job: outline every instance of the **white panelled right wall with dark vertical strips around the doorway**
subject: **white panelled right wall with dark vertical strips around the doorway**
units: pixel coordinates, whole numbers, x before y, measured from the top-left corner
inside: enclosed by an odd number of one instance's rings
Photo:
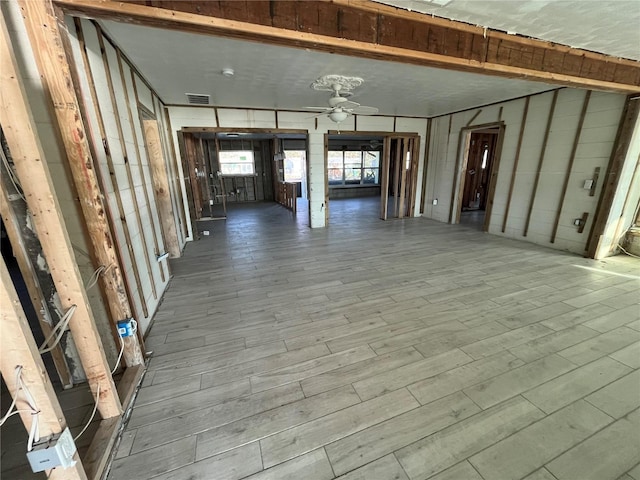
[[[557,95],[555,105],[554,95]],[[585,90],[564,88],[557,93],[529,97],[526,118],[524,98],[434,118],[424,216],[443,222],[455,220],[460,205],[453,193],[460,188],[464,174],[461,168],[467,132],[464,129],[503,122],[505,135],[495,177],[489,232],[584,253],[624,102],[623,95],[603,92],[587,95]],[[522,144],[514,172],[523,120]],[[548,140],[543,149],[547,128]],[[577,143],[572,161],[574,142]],[[600,167],[601,175],[595,195],[589,196],[584,183],[593,178],[596,167]],[[456,178],[457,168],[460,171]],[[513,195],[509,198],[512,178]],[[433,205],[434,199],[438,200],[437,205]],[[573,222],[585,212],[587,222],[579,233]]]

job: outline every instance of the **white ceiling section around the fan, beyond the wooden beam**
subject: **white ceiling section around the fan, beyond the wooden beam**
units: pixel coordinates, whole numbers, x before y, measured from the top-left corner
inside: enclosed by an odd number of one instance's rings
[[[298,48],[101,22],[110,37],[168,104],[185,93],[211,96],[216,106],[301,110],[326,106],[328,92],[311,89],[327,74],[362,77],[352,100],[384,115],[429,117],[555,88],[540,82],[460,73]],[[223,68],[233,68],[231,78]]]

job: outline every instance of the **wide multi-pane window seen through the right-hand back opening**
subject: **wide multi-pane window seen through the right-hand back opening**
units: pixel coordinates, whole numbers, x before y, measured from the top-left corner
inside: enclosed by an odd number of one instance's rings
[[[378,185],[380,152],[329,150],[329,185]]]

